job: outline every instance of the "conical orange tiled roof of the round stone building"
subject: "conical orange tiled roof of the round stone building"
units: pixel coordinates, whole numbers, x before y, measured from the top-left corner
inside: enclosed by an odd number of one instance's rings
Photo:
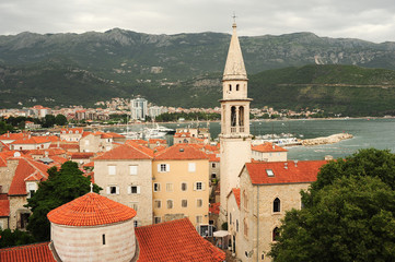
[[[136,216],[129,206],[96,193],[86,193],[47,215],[51,223],[67,226],[98,226],[128,221]]]

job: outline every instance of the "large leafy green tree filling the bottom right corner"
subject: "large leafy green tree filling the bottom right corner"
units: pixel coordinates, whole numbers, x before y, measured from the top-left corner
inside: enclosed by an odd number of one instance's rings
[[[395,261],[395,156],[361,150],[325,165],[287,212],[269,253],[281,261]]]

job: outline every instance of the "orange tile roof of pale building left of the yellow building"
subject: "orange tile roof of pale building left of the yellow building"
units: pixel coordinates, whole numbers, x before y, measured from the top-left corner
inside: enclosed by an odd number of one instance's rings
[[[141,146],[136,144],[137,147]],[[95,160],[102,159],[151,159],[152,158],[152,150],[150,148],[137,148],[129,144],[119,145],[111,151],[105,152],[103,155],[94,158]],[[141,146],[143,147],[143,146]],[[146,150],[149,150],[147,152]]]

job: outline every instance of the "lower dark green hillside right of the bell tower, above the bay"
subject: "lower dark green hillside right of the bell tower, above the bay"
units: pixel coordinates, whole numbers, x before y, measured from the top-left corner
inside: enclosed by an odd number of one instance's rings
[[[321,108],[348,116],[395,114],[395,71],[355,66],[305,66],[249,78],[253,106]]]

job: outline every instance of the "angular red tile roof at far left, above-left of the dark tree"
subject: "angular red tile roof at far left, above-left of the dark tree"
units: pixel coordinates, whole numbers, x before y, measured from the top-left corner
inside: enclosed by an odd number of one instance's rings
[[[9,195],[27,194],[25,181],[42,181],[48,177],[48,166],[28,158],[18,158],[19,164],[9,190]]]

